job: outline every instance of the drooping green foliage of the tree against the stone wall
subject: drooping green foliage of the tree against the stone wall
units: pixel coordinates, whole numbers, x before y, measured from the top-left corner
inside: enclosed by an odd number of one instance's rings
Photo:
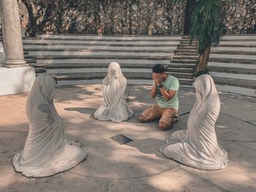
[[[198,53],[203,54],[206,47],[218,46],[225,34],[223,22],[225,12],[222,0],[198,0],[192,13],[190,43],[197,40]]]

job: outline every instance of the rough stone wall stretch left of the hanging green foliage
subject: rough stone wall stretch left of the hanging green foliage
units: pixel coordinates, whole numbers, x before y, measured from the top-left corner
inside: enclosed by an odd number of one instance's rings
[[[38,33],[181,34],[184,28],[184,3],[171,0],[78,0],[59,9]]]

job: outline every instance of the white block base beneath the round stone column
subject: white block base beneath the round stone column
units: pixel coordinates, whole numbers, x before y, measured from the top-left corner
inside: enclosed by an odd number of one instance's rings
[[[36,76],[31,66],[0,68],[0,96],[30,91]]]

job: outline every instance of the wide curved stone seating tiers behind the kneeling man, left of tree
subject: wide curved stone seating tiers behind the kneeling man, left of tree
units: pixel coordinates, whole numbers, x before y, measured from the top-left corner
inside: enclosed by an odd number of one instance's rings
[[[39,34],[23,39],[23,48],[26,61],[37,61],[31,64],[37,74],[52,74],[58,85],[101,83],[108,64],[117,61],[129,84],[152,85],[152,66],[163,64],[181,85],[191,86],[192,64],[170,64],[180,41],[181,36]]]

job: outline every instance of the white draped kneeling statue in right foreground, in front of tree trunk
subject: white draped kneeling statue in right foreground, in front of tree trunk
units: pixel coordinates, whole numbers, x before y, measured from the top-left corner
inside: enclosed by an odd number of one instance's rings
[[[214,80],[203,74],[195,80],[197,97],[189,114],[187,130],[175,131],[159,151],[167,158],[196,169],[225,169],[227,151],[217,142],[215,123],[220,101]]]

